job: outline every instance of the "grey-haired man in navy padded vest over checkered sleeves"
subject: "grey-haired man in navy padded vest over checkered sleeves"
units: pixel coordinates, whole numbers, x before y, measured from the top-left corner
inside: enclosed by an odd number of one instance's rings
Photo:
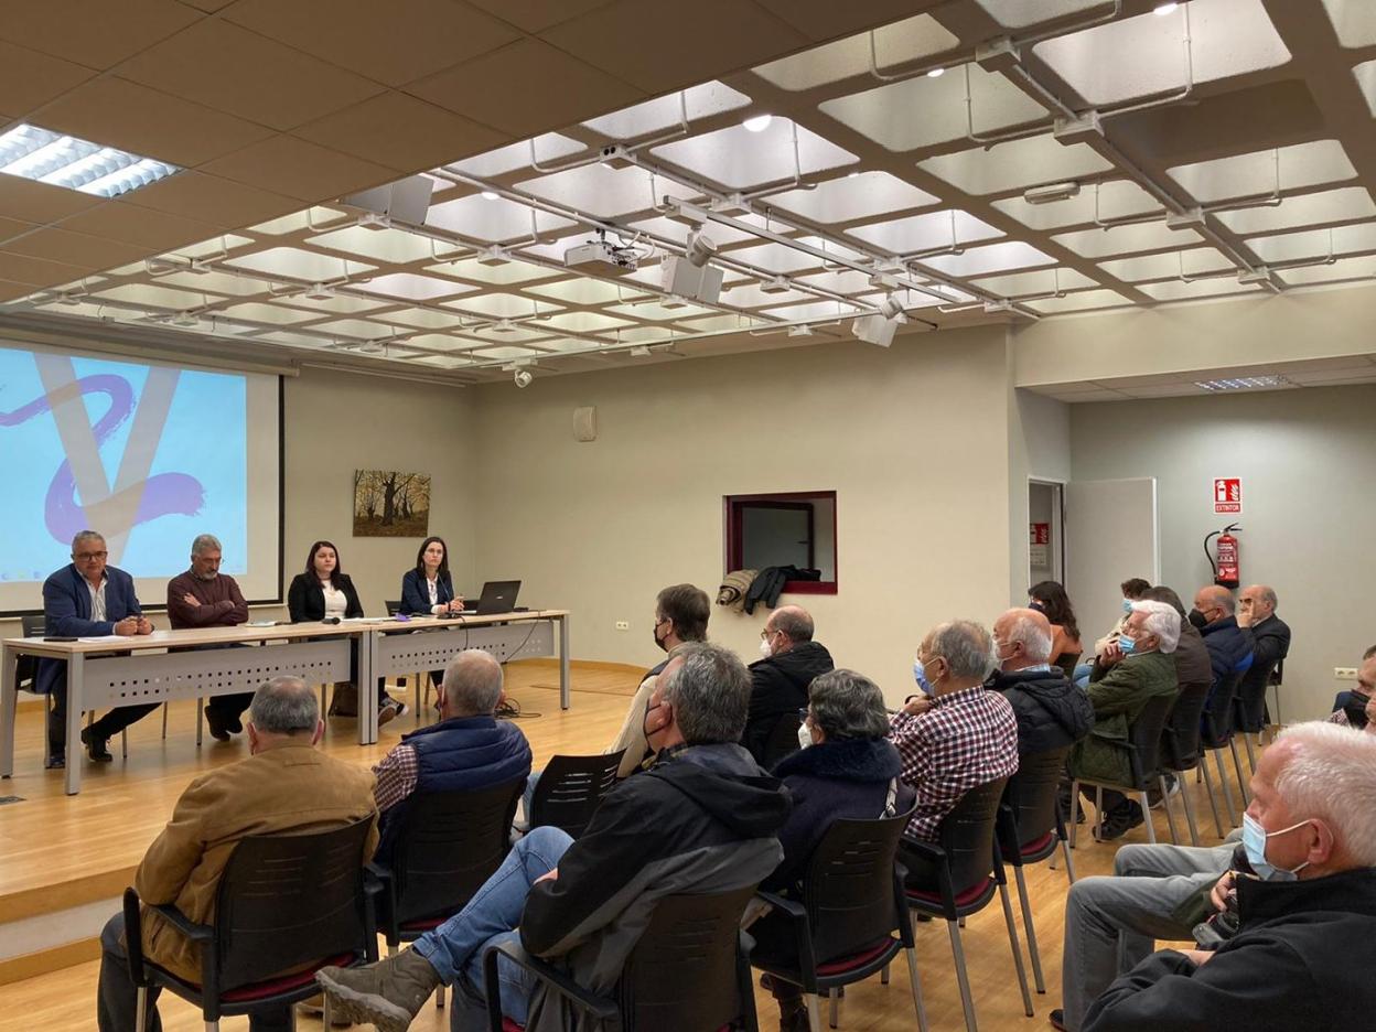
[[[439,724],[403,735],[377,775],[383,841],[377,859],[389,863],[413,793],[482,791],[530,775],[530,743],[493,711],[502,699],[502,667],[487,652],[460,652],[438,687]]]

